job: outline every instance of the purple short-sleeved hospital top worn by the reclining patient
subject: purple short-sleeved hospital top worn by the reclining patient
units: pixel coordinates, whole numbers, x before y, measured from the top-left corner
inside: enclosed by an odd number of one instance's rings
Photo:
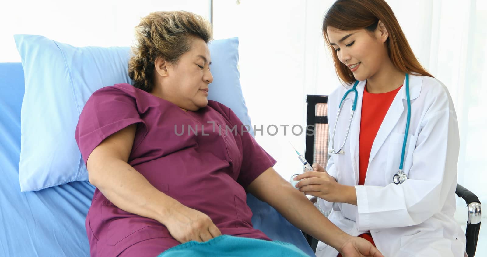
[[[131,124],[137,130],[128,163],[150,184],[208,215],[224,235],[270,240],[252,227],[244,188],[276,161],[232,110],[208,101],[206,108],[186,112],[125,83],[99,89],[76,127],[85,164],[105,138]],[[148,239],[157,239],[156,252],[179,244],[164,225],[117,208],[98,189],[86,231],[92,257],[118,256]],[[137,253],[146,256],[144,248]]]

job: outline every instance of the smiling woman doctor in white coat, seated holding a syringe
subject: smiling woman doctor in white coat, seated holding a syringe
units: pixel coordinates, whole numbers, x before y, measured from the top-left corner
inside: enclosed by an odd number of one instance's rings
[[[453,219],[458,123],[447,88],[419,64],[384,0],[337,0],[323,35],[348,86],[328,98],[326,171],[314,164],[296,187],[384,256],[463,257]],[[316,254],[338,252],[319,242]]]

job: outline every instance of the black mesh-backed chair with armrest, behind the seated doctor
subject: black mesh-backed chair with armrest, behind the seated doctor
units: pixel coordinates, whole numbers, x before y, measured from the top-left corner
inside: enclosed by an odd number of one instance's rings
[[[319,165],[326,167],[328,159],[330,158],[328,155],[328,96],[307,95],[306,102],[308,103],[306,125],[314,126],[315,133],[313,135],[310,135],[311,133],[306,134],[305,158],[309,163],[318,163]],[[467,237],[466,252],[468,257],[473,257],[477,248],[477,239],[480,231],[480,219],[482,214],[480,201],[475,194],[468,191],[460,184],[457,184],[455,193],[458,197],[465,200],[468,206],[467,231],[465,233]],[[328,217],[329,213],[323,211],[322,213]],[[303,234],[313,251],[316,252],[318,240],[310,235]]]

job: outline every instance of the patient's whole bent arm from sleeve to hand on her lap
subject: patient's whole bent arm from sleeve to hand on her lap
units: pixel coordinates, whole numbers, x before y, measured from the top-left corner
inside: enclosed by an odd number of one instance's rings
[[[220,236],[220,230],[206,214],[157,190],[127,163],[135,129],[135,124],[122,129],[94,148],[87,161],[90,183],[118,208],[166,225],[179,242]]]

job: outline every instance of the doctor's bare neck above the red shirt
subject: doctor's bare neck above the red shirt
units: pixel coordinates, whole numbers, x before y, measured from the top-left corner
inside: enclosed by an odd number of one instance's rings
[[[386,93],[400,87],[406,74],[397,69],[389,58],[386,58],[377,72],[367,78],[367,92]]]

